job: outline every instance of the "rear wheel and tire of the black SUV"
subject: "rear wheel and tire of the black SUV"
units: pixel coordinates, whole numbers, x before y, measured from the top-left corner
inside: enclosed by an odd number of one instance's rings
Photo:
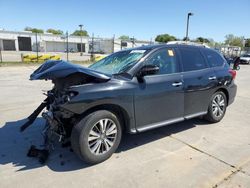
[[[217,91],[211,97],[208,106],[208,112],[205,115],[204,119],[212,123],[217,123],[223,119],[226,113],[226,109],[227,109],[227,97],[224,92]]]

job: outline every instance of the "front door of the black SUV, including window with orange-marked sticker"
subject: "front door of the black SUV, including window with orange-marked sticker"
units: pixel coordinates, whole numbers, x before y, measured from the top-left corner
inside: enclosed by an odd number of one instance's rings
[[[134,99],[137,130],[183,120],[183,81],[174,49],[157,50],[145,64],[159,66],[159,72],[144,76],[143,82],[138,82]]]

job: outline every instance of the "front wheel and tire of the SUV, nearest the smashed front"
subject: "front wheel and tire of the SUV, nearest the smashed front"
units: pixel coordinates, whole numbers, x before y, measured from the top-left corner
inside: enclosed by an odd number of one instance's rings
[[[121,137],[122,128],[118,117],[110,111],[98,110],[73,127],[71,147],[86,163],[97,164],[115,152]]]

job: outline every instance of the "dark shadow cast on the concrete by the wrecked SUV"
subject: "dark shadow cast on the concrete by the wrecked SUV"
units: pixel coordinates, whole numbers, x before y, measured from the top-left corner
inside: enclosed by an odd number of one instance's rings
[[[31,145],[35,145],[38,148],[41,147],[43,141],[41,132],[44,120],[41,117],[37,118],[31,127],[21,133],[19,129],[26,121],[26,119],[23,119],[6,122],[5,125],[0,128],[0,165],[11,164],[15,167],[15,171],[31,170],[44,166],[38,162],[37,158],[27,157],[27,152]],[[192,119],[139,134],[124,134],[116,153],[134,149],[138,146],[170,136],[171,134],[206,124],[207,122],[204,120]],[[73,171],[90,167],[90,165],[81,161],[69,147],[63,148],[59,143],[55,146],[55,150],[50,154],[45,165],[57,172]]]

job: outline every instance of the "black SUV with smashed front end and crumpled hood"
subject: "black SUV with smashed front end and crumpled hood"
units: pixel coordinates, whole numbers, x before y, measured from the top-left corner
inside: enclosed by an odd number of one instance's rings
[[[126,49],[88,68],[47,61],[30,79],[52,80],[54,87],[21,131],[46,108],[44,150],[58,137],[82,160],[99,163],[115,152],[124,131],[198,116],[219,122],[235,98],[235,76],[218,52],[186,45]]]

